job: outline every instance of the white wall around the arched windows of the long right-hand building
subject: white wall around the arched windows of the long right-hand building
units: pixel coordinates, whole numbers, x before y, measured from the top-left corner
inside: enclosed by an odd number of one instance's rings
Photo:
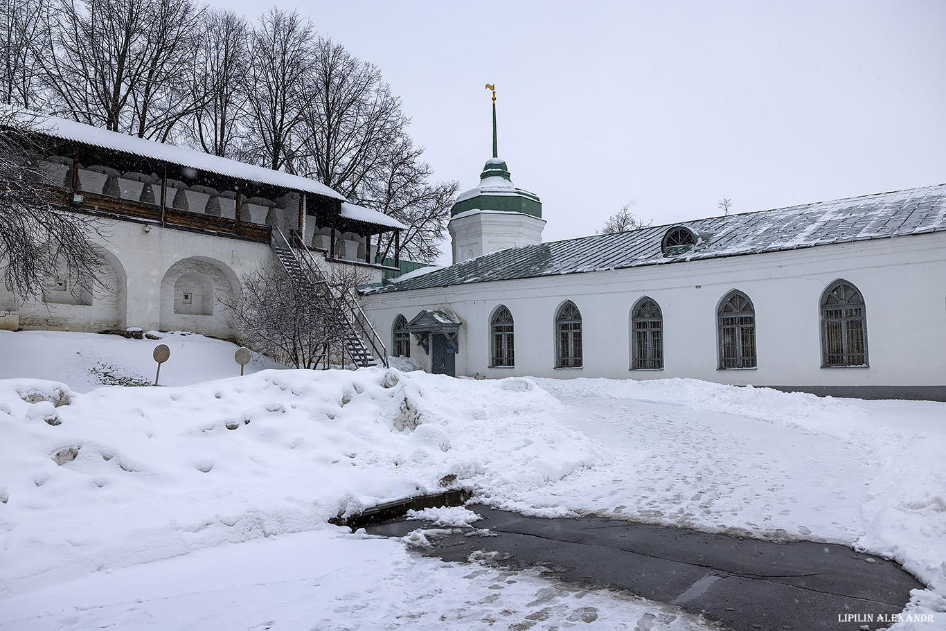
[[[821,368],[819,300],[843,278],[861,290],[869,367]],[[486,377],[695,377],[738,385],[946,384],[946,235],[878,239],[628,270],[577,273],[369,294],[378,331],[394,317],[447,309],[463,321],[457,375]],[[758,367],[718,370],[716,308],[731,289],[756,312]],[[629,314],[647,295],[663,313],[664,369],[632,371]],[[554,368],[553,318],[570,299],[583,318],[584,366]],[[515,321],[516,366],[489,368],[489,314]],[[385,341],[390,344],[389,339]],[[412,341],[413,342],[413,341]],[[412,346],[429,370],[429,357]],[[426,362],[426,363],[425,363]]]

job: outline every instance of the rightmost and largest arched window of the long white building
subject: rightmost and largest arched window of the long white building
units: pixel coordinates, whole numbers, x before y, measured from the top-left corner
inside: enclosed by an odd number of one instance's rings
[[[821,294],[821,365],[867,366],[864,298],[846,280]]]

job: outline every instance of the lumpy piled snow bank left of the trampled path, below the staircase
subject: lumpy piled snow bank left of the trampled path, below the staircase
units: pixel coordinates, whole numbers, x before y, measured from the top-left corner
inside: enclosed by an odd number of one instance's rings
[[[543,418],[555,403],[527,379],[382,369],[88,394],[0,381],[0,596],[331,528],[448,485],[502,494],[604,462],[601,445]]]

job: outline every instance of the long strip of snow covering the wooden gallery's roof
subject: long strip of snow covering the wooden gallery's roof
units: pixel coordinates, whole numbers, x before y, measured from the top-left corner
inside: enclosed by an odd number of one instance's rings
[[[203,151],[184,149],[183,147],[175,147],[174,145],[167,145],[145,138],[118,133],[117,131],[103,130],[99,127],[92,127],[91,125],[77,123],[76,121],[66,120],[57,116],[19,114],[19,117],[27,124],[28,129],[54,138],[72,140],[83,145],[92,145],[93,147],[101,149],[123,151],[125,153],[131,153],[132,155],[153,158],[155,160],[164,160],[175,165],[181,165],[182,167],[196,168],[201,171],[236,178],[237,180],[283,186],[292,190],[316,193],[318,195],[324,195],[325,197],[344,200],[342,194],[335,192],[320,182],[298,175],[284,173],[283,171],[274,171],[272,168],[256,167],[254,165],[237,162],[236,160],[230,160],[229,158],[221,158],[216,155],[211,155],[210,153],[204,153]],[[378,221],[373,222],[377,223]]]

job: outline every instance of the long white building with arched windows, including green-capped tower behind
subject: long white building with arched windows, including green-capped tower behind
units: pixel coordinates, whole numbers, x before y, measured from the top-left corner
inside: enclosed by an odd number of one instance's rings
[[[541,243],[487,161],[453,265],[367,289],[393,355],[466,377],[694,377],[946,400],[946,184]]]

